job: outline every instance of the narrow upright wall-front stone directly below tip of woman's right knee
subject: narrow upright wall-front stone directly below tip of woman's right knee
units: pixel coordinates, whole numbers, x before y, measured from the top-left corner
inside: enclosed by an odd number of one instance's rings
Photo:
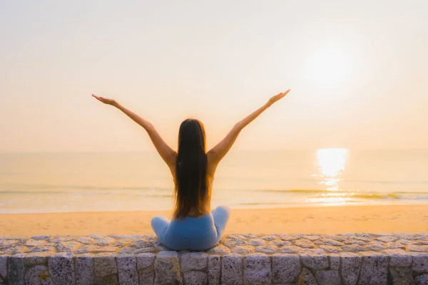
[[[221,284],[243,284],[243,256],[228,254],[223,257]]]

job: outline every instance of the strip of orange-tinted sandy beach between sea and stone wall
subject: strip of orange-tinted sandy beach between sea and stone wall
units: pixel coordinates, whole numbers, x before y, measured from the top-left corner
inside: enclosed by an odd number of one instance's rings
[[[153,234],[151,218],[170,212],[0,214],[0,235]],[[427,206],[233,209],[226,233],[428,232]]]

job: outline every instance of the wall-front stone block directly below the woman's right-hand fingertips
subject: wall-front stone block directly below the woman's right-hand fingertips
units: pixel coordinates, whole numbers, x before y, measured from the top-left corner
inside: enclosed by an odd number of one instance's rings
[[[299,277],[302,265],[295,254],[274,254],[272,256],[272,280],[274,283],[294,283]]]

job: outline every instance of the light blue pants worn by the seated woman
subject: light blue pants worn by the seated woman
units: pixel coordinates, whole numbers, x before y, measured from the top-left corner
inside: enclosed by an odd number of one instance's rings
[[[228,207],[217,207],[203,217],[173,219],[154,217],[153,231],[161,244],[174,250],[206,250],[220,242],[229,219]]]

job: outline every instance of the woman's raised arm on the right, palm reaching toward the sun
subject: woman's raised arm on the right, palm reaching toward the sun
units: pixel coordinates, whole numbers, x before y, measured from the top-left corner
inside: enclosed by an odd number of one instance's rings
[[[208,159],[210,163],[213,163],[215,166],[218,165],[218,162],[222,160],[222,158],[228,153],[230,150],[230,147],[232,147],[233,143],[235,142],[236,138],[238,138],[238,135],[243,128],[245,128],[246,125],[253,122],[255,118],[257,118],[261,113],[263,113],[264,110],[269,108],[273,103],[277,102],[277,100],[280,100],[281,98],[284,98],[287,93],[290,92],[290,89],[279,93],[275,96],[272,96],[265,105],[258,108],[258,110],[255,110],[253,113],[248,115],[243,120],[240,120],[233,128],[230,130],[228,135],[225,136],[225,138],[218,143],[218,145],[215,145],[209,152],[208,152]],[[215,168],[215,167],[214,167]]]

